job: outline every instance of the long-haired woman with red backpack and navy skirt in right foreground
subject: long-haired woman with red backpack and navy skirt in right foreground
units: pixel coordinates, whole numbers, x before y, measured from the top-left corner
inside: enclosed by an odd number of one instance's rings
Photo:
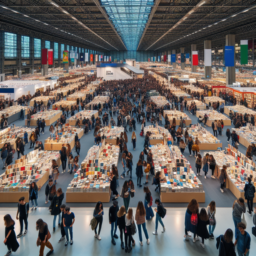
[[[191,235],[188,234],[188,231],[194,234],[193,243],[199,240],[196,237],[196,228],[198,224],[198,214],[199,214],[199,204],[196,199],[192,199],[191,202],[188,204],[188,208],[186,210],[185,215],[185,240],[188,240]]]

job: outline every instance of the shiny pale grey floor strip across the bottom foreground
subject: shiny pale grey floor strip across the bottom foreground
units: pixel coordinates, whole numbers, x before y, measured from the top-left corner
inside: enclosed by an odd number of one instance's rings
[[[155,205],[153,204],[153,207]],[[133,208],[135,212],[135,208]],[[94,231],[92,231],[89,226],[90,220],[92,218],[93,209],[92,208],[72,208],[71,211],[75,214],[75,223],[73,226],[73,239],[74,243],[71,246],[68,244],[65,247],[65,240],[58,243],[61,237],[60,228],[56,228],[56,231],[52,231],[52,221],[53,216],[50,215],[46,207],[39,207],[37,210],[29,212],[28,217],[28,234],[25,237],[18,238],[20,244],[17,252],[12,255],[19,256],[36,256],[39,255],[39,248],[36,246],[36,239],[38,237],[38,231],[36,231],[36,220],[42,218],[49,227],[51,232],[50,242],[53,245],[54,253],[52,255],[62,255],[62,256],[80,256],[80,255],[125,255],[124,250],[120,246],[120,238],[115,239],[116,245],[111,243],[110,230],[111,226],[108,220],[109,208],[104,208],[103,225],[102,231],[100,232],[101,241],[94,237]],[[161,233],[161,225],[159,224],[158,235],[155,236],[152,232],[155,229],[155,217],[146,221],[146,228],[149,234],[150,244],[147,245],[146,238],[142,232],[143,246],[139,244],[139,235],[134,235],[135,246],[130,254],[132,255],[191,255],[191,256],[213,256],[218,255],[218,250],[216,249],[216,240],[207,239],[205,241],[205,249],[200,246],[200,242],[197,241],[193,243],[190,238],[189,241],[184,239],[184,220],[185,220],[186,208],[167,208],[167,214],[163,219],[163,223],[166,227],[166,231]],[[16,216],[15,208],[0,208],[0,219],[2,220],[0,225],[0,241],[4,241],[4,223],[3,216],[6,213],[11,214],[15,219]],[[247,226],[247,232],[249,232],[251,237],[251,248],[250,255],[255,255],[256,250],[256,238],[252,235],[252,217],[248,214],[245,215]],[[19,233],[19,221],[15,219],[15,232]],[[214,230],[215,238],[221,234],[224,234],[228,228],[231,228],[233,232],[235,231],[234,223],[232,220],[232,208],[217,208],[216,209],[216,229]],[[120,232],[117,229],[117,235]],[[234,239],[233,239],[234,242]],[[7,251],[4,243],[0,243],[0,252],[2,255]],[[45,248],[45,253],[49,251]]]

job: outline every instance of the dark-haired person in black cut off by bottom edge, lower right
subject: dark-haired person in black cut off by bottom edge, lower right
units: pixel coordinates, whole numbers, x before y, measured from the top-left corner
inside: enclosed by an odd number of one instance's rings
[[[228,228],[224,235],[216,238],[216,247],[219,250],[219,256],[237,256],[235,245],[233,243],[233,231]]]

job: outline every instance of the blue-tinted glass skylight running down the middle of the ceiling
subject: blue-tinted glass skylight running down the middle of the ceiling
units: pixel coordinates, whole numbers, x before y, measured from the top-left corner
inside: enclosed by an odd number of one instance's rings
[[[101,0],[128,51],[136,51],[154,0]]]

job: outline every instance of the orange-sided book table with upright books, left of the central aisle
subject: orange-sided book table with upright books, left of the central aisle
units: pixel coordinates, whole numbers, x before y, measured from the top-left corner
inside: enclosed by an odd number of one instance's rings
[[[56,132],[53,138],[49,137],[45,140],[45,150],[61,150],[62,145],[64,144],[67,147],[68,143],[72,149],[75,146],[76,133],[80,139],[83,136],[83,129],[65,124],[65,127]]]

